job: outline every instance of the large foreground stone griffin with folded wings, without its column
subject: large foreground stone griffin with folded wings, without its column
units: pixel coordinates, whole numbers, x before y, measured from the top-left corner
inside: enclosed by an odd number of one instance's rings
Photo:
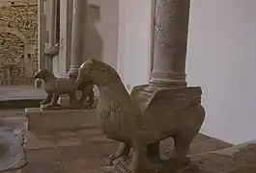
[[[152,153],[159,149],[157,143],[167,137],[175,140],[169,161],[189,161],[186,158],[189,145],[205,118],[200,87],[173,87],[147,93],[147,85],[135,86],[129,95],[116,70],[104,62],[88,59],[79,68],[75,86],[91,83],[100,90],[97,107],[100,128],[107,137],[121,142],[110,161],[128,158],[132,148],[129,172],[160,172],[149,167],[166,162],[158,152]],[[169,99],[163,100],[166,95]]]

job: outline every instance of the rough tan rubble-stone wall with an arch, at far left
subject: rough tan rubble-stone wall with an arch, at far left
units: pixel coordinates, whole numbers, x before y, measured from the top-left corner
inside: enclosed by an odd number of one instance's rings
[[[33,83],[37,71],[38,7],[35,0],[1,0],[0,3],[0,85],[8,85],[11,65],[11,84]],[[23,2],[23,3],[22,3]],[[10,66],[9,66],[10,67]]]

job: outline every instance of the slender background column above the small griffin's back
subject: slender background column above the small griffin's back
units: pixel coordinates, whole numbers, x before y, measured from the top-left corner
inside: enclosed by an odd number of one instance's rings
[[[72,32],[71,32],[71,69],[76,74],[85,56],[87,0],[73,0]]]

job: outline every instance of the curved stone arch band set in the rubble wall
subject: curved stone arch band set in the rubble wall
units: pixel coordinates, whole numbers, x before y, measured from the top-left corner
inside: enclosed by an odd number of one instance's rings
[[[19,39],[24,43],[24,54],[25,55],[30,54],[32,52],[32,46],[29,44],[28,38],[25,37],[17,29],[0,25],[0,34],[1,33],[10,33],[10,34],[15,35],[16,37],[19,37]]]

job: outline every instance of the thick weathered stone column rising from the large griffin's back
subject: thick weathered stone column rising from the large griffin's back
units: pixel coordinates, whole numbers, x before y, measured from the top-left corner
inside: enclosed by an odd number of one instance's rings
[[[152,86],[186,86],[190,0],[156,0]]]

